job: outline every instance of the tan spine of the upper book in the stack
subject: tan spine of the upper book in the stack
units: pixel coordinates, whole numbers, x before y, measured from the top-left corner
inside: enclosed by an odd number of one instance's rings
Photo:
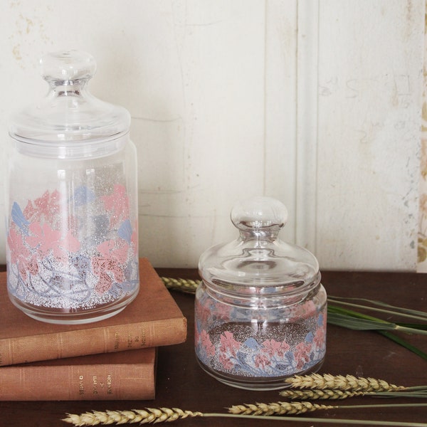
[[[185,340],[185,317],[1,339],[0,367],[39,360],[180,344]]]

